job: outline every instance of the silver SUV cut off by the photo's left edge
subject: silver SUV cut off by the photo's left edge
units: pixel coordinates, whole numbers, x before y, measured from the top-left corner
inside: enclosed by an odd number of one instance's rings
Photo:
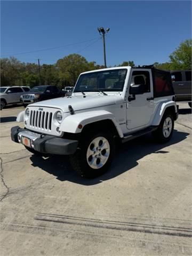
[[[0,87],[1,110],[6,105],[20,102],[20,97],[26,90],[30,90],[27,86],[3,86]]]

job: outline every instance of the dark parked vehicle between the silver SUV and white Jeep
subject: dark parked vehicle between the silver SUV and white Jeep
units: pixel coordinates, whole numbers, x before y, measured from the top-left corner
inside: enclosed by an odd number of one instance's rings
[[[21,96],[23,106],[27,106],[29,103],[54,99],[62,96],[62,92],[57,86],[53,85],[39,85],[33,87],[29,92]]]

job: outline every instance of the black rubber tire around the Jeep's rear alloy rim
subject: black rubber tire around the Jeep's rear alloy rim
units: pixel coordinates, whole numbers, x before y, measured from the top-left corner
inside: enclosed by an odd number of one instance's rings
[[[169,134],[167,135],[167,137],[165,137],[165,132],[163,132],[164,130],[163,126],[164,126],[165,120],[170,120],[172,122],[171,129],[167,128],[167,134]],[[167,112],[163,115],[162,120],[158,126],[158,129],[154,131],[152,134],[158,142],[165,143],[171,139],[173,130],[174,130],[174,118],[171,112]]]

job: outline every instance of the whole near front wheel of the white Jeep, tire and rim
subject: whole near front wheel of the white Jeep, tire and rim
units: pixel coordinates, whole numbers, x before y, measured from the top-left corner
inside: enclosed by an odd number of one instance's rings
[[[86,135],[78,147],[76,153],[70,156],[70,163],[77,173],[95,178],[108,170],[115,154],[115,143],[110,132]]]

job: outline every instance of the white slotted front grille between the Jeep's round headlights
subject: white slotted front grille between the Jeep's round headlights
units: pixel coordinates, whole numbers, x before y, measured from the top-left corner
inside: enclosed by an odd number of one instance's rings
[[[30,110],[29,125],[35,129],[51,131],[52,112]]]

